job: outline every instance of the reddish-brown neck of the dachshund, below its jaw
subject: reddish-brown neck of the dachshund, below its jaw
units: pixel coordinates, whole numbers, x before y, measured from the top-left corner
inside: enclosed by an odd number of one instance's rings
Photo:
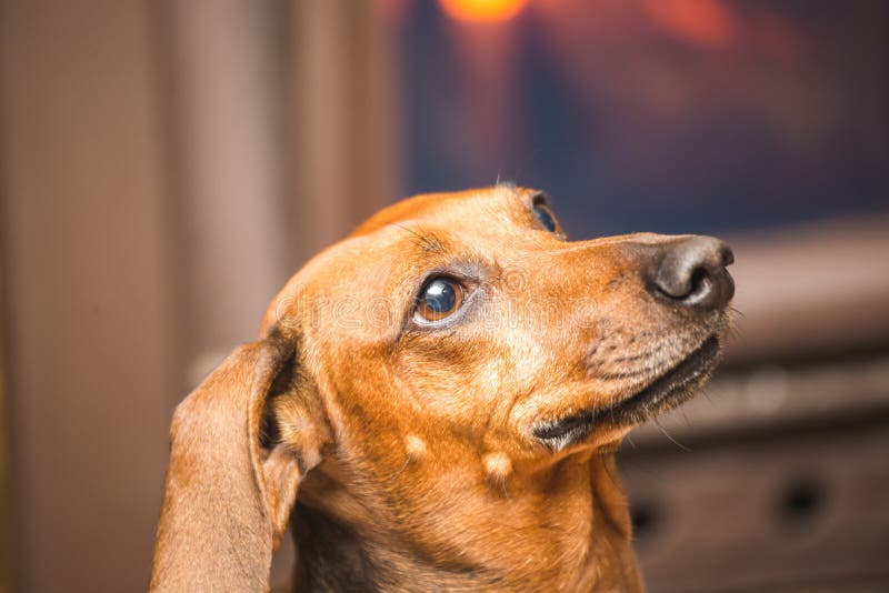
[[[291,515],[294,590],[641,591],[612,453],[499,484],[448,468],[310,472]]]

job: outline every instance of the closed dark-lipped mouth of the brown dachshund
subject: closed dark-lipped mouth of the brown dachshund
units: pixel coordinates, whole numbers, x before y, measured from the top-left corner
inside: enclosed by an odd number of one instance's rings
[[[588,436],[597,426],[640,424],[689,400],[709,378],[719,352],[719,338],[711,335],[633,395],[606,408],[591,408],[563,419],[542,422],[535,426],[533,435],[550,449],[560,450],[570,442]]]

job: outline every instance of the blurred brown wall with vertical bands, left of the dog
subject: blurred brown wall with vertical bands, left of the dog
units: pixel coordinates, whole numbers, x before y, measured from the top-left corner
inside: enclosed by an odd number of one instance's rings
[[[174,404],[396,192],[377,31],[346,0],[0,1],[16,591],[146,587]]]

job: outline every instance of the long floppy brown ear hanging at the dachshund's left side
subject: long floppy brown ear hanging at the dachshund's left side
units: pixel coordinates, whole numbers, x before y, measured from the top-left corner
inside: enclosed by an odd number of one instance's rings
[[[152,591],[268,590],[299,482],[329,434],[293,344],[271,332],[240,346],[177,408]],[[301,421],[277,426],[272,400]]]

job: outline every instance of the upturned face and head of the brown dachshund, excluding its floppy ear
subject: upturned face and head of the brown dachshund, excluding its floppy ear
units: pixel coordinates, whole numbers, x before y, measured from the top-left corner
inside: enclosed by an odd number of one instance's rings
[[[298,339],[340,446],[455,439],[547,462],[619,439],[706,380],[729,263],[708,238],[570,242],[535,191],[423,195],[310,262],[264,328]]]

